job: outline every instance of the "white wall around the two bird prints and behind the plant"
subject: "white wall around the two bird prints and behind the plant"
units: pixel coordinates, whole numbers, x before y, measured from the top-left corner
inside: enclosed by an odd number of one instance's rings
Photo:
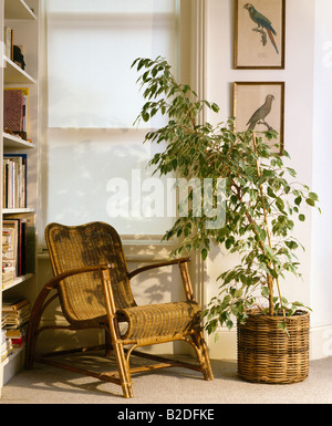
[[[207,72],[206,97],[217,102],[222,121],[232,115],[232,82],[283,81],[284,95],[284,148],[291,155],[298,180],[321,195],[323,215],[307,212],[307,220],[295,227],[295,233],[305,247],[299,252],[303,281],[290,277],[282,283],[283,295],[310,304],[312,314],[312,357],[326,356],[326,341],[317,333],[330,336],[332,330],[332,290],[329,277],[331,242],[326,232],[331,229],[329,199],[331,175],[328,174],[331,155],[331,100],[326,104],[325,92],[331,98],[332,55],[328,66],[322,66],[322,49],[332,40],[329,21],[331,0],[288,0],[286,2],[286,67],[284,70],[234,70],[234,1],[207,0]],[[317,8],[317,17],[315,17]],[[330,12],[330,13],[328,13]],[[322,24],[322,19],[325,21]],[[325,44],[324,44],[325,43]],[[332,49],[332,41],[329,49]],[[324,51],[326,54],[326,51]],[[326,62],[326,58],[325,58]],[[323,111],[323,115],[321,114]],[[329,122],[328,122],[329,120]],[[330,132],[331,134],[331,132]],[[330,145],[329,145],[330,143]],[[217,291],[216,278],[227,270],[234,260],[226,252],[216,250],[207,263],[206,297]],[[332,333],[331,333],[332,339]],[[220,330],[218,343],[209,339],[211,357],[236,356],[236,333]],[[332,351],[332,344],[331,344]],[[331,355],[331,353],[330,353]]]

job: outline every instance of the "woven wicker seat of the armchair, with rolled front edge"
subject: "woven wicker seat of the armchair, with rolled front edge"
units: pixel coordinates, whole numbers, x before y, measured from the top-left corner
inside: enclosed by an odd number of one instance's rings
[[[128,329],[122,337],[142,340],[197,330],[201,308],[196,302],[186,301],[126,308],[117,313],[128,322]]]

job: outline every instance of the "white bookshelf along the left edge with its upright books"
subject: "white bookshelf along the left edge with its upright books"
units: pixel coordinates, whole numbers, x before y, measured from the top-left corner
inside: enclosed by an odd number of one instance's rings
[[[39,177],[39,11],[40,0],[0,0],[0,24],[1,24],[1,44],[4,46],[1,54],[1,91],[0,102],[3,105],[3,115],[0,117],[0,163],[1,163],[1,185],[0,185],[0,208],[2,212],[1,220],[1,288],[0,304],[8,298],[23,298],[31,303],[37,297],[37,260],[35,260],[35,222],[37,207],[39,199],[38,177]],[[13,56],[13,50],[6,49],[6,31],[12,38],[12,46],[21,49],[24,61],[24,69],[20,61]],[[8,44],[8,43],[7,43]],[[8,54],[8,52],[10,54]],[[18,134],[8,124],[12,124],[9,117],[8,105],[10,102],[4,96],[4,92],[22,92],[22,122],[21,133]],[[10,97],[11,100],[11,97]],[[10,104],[11,105],[11,104]],[[21,104],[19,104],[19,108]],[[12,114],[12,113],[11,113]],[[9,120],[10,118],[10,120]],[[15,124],[20,120],[15,118]],[[19,163],[13,162],[9,166],[8,157],[19,158]],[[22,160],[24,158],[24,162]],[[12,160],[12,158],[10,159]],[[21,163],[20,163],[21,162]],[[23,162],[23,163],[22,163]],[[23,164],[23,165],[22,165]],[[11,168],[9,168],[11,167]],[[15,199],[9,202],[7,191]],[[14,195],[17,198],[14,198]],[[10,237],[6,237],[8,224],[13,221],[19,224],[19,238],[15,249],[8,249]],[[23,241],[23,242],[22,242]],[[27,247],[27,249],[24,249]],[[21,251],[20,251],[21,250]],[[6,278],[3,264],[6,264],[9,253],[13,256],[15,270],[13,276]],[[21,254],[19,254],[21,253]],[[22,254],[24,253],[24,254]],[[29,262],[28,262],[29,259]],[[10,259],[12,260],[12,259]],[[10,263],[10,262],[9,262]],[[20,263],[20,268],[18,268]],[[29,264],[28,264],[29,263]],[[2,310],[0,312],[2,320]],[[2,331],[2,323],[1,323]],[[3,339],[3,333],[1,334]],[[22,367],[24,346],[11,351],[10,355],[1,360],[0,368],[0,396],[1,387]]]

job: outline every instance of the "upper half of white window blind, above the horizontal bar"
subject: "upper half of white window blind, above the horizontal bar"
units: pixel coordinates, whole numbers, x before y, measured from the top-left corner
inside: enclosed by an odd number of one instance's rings
[[[131,64],[174,63],[174,0],[49,0],[50,127],[132,127],[142,96]]]

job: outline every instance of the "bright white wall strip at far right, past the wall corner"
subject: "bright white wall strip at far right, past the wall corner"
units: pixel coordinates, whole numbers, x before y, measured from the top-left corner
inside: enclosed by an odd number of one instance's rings
[[[312,184],[322,215],[312,218],[311,303],[317,336],[315,356],[332,355],[332,2],[315,1]]]

